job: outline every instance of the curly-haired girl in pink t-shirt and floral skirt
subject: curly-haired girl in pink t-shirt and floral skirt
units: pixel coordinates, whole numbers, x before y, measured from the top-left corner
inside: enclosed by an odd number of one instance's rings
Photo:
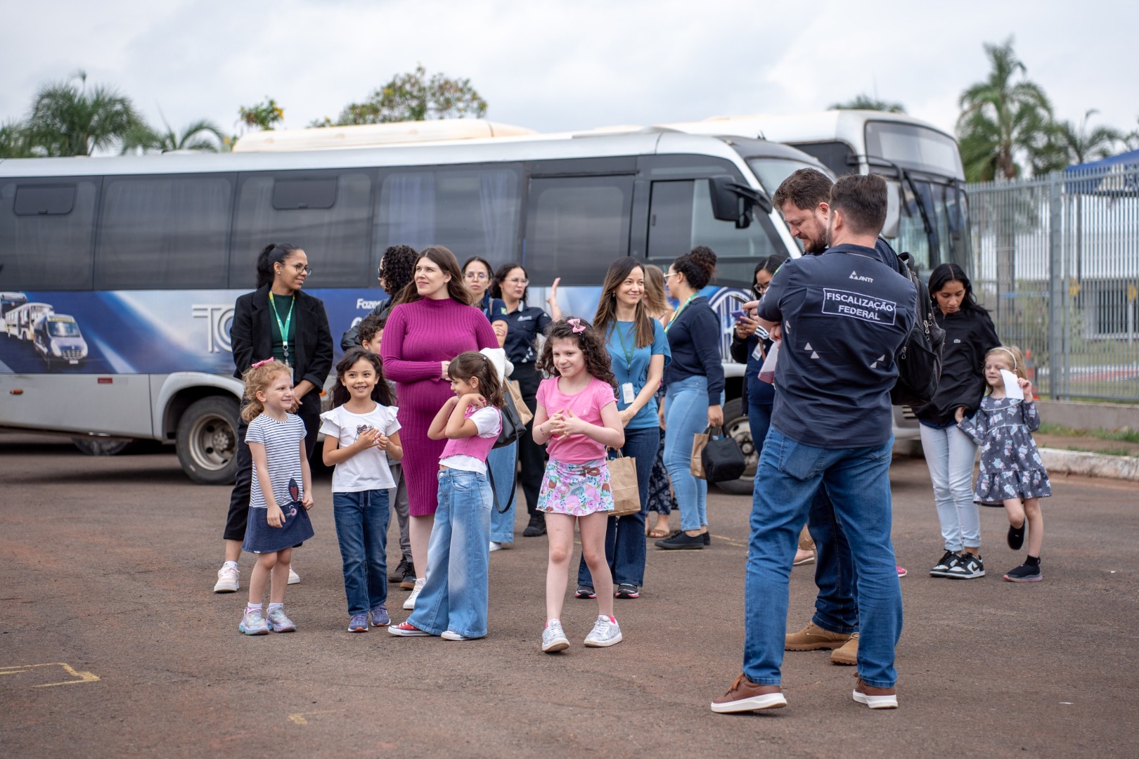
[[[617,412],[617,382],[609,368],[609,352],[589,324],[580,319],[550,324],[538,369],[551,374],[538,386],[534,442],[544,444],[550,454],[538,509],[546,513],[550,542],[542,651],[552,653],[570,647],[559,617],[570,580],[575,520],[581,530],[581,552],[597,587],[612,589],[605,528],[608,512],[613,511],[613,490],[605,448],[624,445],[625,432]],[[585,636],[585,645],[620,643],[613,593],[598,593],[597,605],[599,616]]]

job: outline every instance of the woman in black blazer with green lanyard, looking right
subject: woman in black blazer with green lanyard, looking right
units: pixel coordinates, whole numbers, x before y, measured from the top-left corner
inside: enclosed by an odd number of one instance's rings
[[[257,289],[237,299],[229,330],[233,377],[240,379],[249,366],[265,358],[293,366],[293,394],[300,398],[294,413],[304,422],[304,445],[310,456],[320,429],[320,389],[333,366],[333,336],[325,304],[301,290],[311,272],[308,256],[295,245],[265,246],[257,256]],[[229,497],[223,534],[226,563],[218,571],[214,593],[230,593],[239,587],[237,560],[245,541],[253,480],[253,459],[245,444],[247,428],[245,420],[237,427],[237,480]],[[289,584],[300,581],[290,569]]]

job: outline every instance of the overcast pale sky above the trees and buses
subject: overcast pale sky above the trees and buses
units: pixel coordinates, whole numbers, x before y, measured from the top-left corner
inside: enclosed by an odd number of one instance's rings
[[[287,127],[335,118],[394,74],[469,77],[492,121],[540,131],[823,109],[859,93],[952,129],[1015,36],[1059,118],[1130,131],[1139,77],[1134,0],[918,3],[757,0],[0,0],[0,121],[83,68],[175,129],[270,96]],[[857,18],[852,17],[857,14]]]

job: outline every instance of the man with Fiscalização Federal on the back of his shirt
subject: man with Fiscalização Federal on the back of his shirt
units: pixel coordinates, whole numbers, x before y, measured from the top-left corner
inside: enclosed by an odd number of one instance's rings
[[[759,304],[781,338],[771,431],[751,517],[744,671],[712,703],[716,712],[786,706],[780,683],[788,580],[798,531],[819,486],[831,498],[859,578],[858,679],[853,698],[894,708],[894,645],[901,587],[890,538],[890,389],[894,355],[917,311],[910,281],[875,251],[886,216],[880,176],[844,176],[831,188],[818,256],[784,264]]]

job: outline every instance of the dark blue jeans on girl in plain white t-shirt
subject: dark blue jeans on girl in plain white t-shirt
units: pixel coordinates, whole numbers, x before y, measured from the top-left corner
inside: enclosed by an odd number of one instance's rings
[[[387,490],[333,493],[333,519],[350,614],[366,614],[387,601],[390,518]]]

